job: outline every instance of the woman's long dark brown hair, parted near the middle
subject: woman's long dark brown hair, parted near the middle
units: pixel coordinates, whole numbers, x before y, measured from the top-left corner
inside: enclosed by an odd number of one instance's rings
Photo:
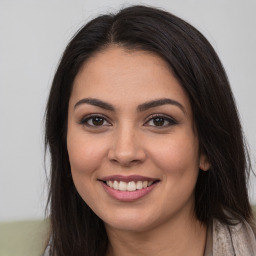
[[[51,157],[48,207],[51,255],[102,256],[108,238],[103,221],[74,186],[67,153],[68,103],[74,78],[95,52],[111,44],[162,57],[187,92],[199,137],[211,168],[199,170],[197,218],[252,223],[247,180],[250,170],[237,108],[227,75],[205,37],[184,20],[159,9],[132,6],[99,16],[68,44],[53,79],[46,109],[45,145]]]

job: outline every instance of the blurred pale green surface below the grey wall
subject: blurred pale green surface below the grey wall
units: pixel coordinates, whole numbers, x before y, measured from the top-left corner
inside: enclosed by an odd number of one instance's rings
[[[42,255],[48,230],[48,220],[0,222],[0,256]]]

